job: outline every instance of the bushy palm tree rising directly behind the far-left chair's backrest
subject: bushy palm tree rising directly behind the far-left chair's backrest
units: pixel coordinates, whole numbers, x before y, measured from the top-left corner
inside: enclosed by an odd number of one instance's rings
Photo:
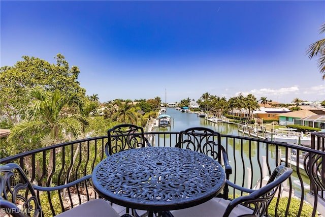
[[[132,123],[134,125],[137,124],[138,113],[132,109],[134,108],[132,100],[125,100],[125,102],[117,100],[115,101],[115,104],[118,106],[118,109],[112,116],[113,121]]]

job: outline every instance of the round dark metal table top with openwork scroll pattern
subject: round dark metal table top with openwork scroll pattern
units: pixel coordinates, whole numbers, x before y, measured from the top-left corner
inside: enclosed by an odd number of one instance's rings
[[[95,190],[130,208],[163,211],[187,208],[219,194],[221,165],[205,154],[174,147],[128,149],[100,162],[92,173]]]

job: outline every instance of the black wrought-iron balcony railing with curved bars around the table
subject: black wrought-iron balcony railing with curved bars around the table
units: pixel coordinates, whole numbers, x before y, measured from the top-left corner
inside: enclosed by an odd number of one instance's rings
[[[145,135],[153,146],[173,147],[178,141],[178,132],[150,132]],[[283,212],[281,216],[288,216],[291,202],[295,200],[299,208],[294,216],[304,216],[305,202],[311,204],[311,216],[325,216],[324,133],[312,134],[311,148],[232,135],[221,135],[221,141],[233,168],[230,180],[242,187],[260,188],[280,164],[294,169],[293,175],[281,188],[281,196],[274,199],[279,202],[272,206],[274,215]],[[96,164],[106,157],[106,142],[107,136],[101,136],[56,144],[1,159],[1,164],[19,164],[34,184],[61,185],[91,174]],[[235,198],[236,193],[230,189],[230,198]],[[75,188],[38,195],[45,216],[99,198],[92,189],[90,179]],[[281,198],[288,200],[284,207]],[[123,207],[113,207],[125,212]]]

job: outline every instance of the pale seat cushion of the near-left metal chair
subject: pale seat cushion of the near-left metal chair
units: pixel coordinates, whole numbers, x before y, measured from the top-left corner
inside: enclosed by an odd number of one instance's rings
[[[120,217],[113,207],[103,199],[95,199],[76,206],[56,217]]]

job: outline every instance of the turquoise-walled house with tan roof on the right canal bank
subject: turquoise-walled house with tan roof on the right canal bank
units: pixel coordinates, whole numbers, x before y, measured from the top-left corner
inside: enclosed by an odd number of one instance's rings
[[[299,111],[292,111],[284,114],[278,114],[277,116],[279,116],[279,125],[287,126],[287,125],[302,125],[302,119],[312,115],[325,115],[325,111],[321,109],[302,109]]]

